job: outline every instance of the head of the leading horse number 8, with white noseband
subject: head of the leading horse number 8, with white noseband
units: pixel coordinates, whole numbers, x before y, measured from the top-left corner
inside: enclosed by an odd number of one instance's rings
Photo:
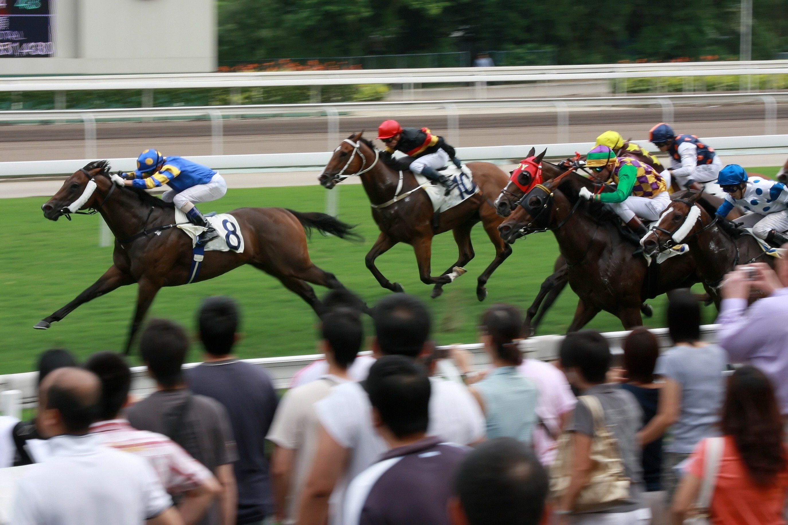
[[[96,178],[99,175],[103,177]],[[80,209],[95,208],[100,194],[106,198],[112,184],[110,161],[91,162],[65,179],[58,193],[46,201],[41,209],[49,220],[58,220],[61,215],[71,220],[71,213],[76,213]]]

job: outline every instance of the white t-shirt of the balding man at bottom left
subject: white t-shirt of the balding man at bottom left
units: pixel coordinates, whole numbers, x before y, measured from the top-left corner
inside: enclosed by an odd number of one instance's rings
[[[173,505],[146,460],[101,441],[95,434],[50,438],[50,459],[20,479],[11,523],[140,525]]]

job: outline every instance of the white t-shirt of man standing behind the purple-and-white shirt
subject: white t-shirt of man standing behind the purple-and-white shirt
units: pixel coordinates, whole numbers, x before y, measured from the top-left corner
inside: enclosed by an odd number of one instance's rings
[[[485,436],[485,417],[466,386],[454,381],[430,378],[429,428],[446,442],[468,445]],[[331,437],[350,449],[348,470],[334,487],[329,499],[329,523],[342,523],[342,502],[348,483],[374,464],[388,449],[372,424],[372,405],[359,383],[335,386],[331,394],[314,404],[318,418]]]

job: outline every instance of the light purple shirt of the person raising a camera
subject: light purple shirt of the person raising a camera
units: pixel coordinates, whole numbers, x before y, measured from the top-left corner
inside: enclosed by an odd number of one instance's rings
[[[760,368],[774,384],[780,412],[788,415],[788,288],[747,309],[746,299],[723,299],[717,343],[735,363]]]

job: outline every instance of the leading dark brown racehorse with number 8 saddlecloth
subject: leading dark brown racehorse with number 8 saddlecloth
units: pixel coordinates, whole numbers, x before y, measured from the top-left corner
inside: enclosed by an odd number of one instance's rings
[[[61,215],[70,219],[70,213],[75,212],[68,206],[85,194],[90,181],[95,183],[95,191],[80,209],[98,211],[110,227],[115,236],[113,264],[91,287],[39,321],[35,328],[46,330],[77,306],[117,287],[138,283],[136,312],[125,346],[125,353],[128,353],[158,290],[188,283],[193,258],[191,238],[179,228],[172,227],[175,223],[172,203],[144,190],[117,187],[110,180],[107,161],[91,162],[74,172],[58,193],[41,206],[44,216],[49,220],[58,220]],[[352,227],[325,213],[298,213],[283,208],[239,208],[230,213],[240,225],[243,253],[206,251],[195,282],[213,279],[243,264],[251,264],[299,294],[319,315],[322,303],[307,283],[329,288],[343,285],[333,274],[312,264],[304,228],[314,227],[340,238],[351,238],[355,235],[351,232]]]

